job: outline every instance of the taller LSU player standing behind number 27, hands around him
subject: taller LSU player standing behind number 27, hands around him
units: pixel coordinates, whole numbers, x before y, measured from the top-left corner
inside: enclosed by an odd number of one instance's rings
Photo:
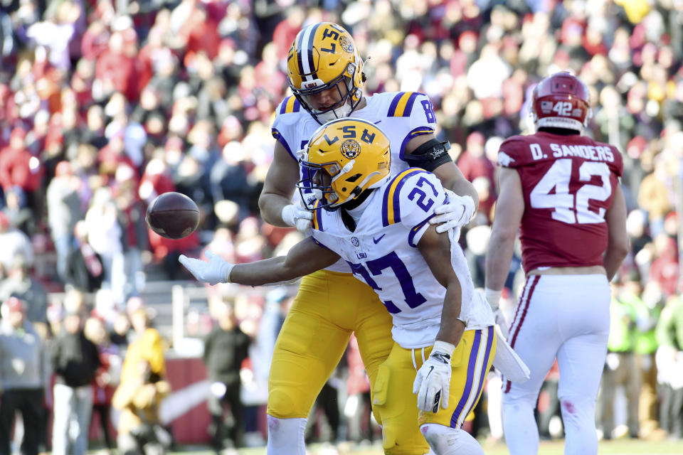
[[[307,232],[312,213],[292,203],[302,178],[296,152],[321,124],[354,117],[378,124],[391,138],[391,172],[416,166],[433,171],[450,193],[430,223],[440,232],[465,225],[477,208],[477,193],[435,139],[428,97],[388,92],[365,97],[364,73],[353,38],[334,23],[314,23],[295,38],[287,55],[294,95],[277,107],[273,161],[259,198],[261,216],[277,226]],[[310,197],[305,190],[305,197]],[[458,196],[460,195],[460,196]],[[391,318],[376,294],[356,281],[345,262],[302,279],[275,344],[268,382],[268,455],[305,454],[304,429],[313,402],[342,358],[351,333],[371,385],[391,350]],[[373,387],[374,388],[374,387]],[[375,413],[378,422],[381,416]],[[426,444],[425,444],[426,448]]]

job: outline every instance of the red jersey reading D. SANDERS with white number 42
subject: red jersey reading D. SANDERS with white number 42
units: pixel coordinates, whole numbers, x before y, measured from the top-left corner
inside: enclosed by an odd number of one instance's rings
[[[524,193],[522,266],[603,265],[605,212],[624,168],[619,151],[581,135],[538,132],[504,141],[498,164],[519,173]]]

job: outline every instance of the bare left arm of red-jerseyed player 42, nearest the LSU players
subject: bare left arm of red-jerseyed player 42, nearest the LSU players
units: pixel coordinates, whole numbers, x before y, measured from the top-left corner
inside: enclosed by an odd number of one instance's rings
[[[500,196],[496,203],[493,229],[486,253],[486,289],[500,292],[510,269],[514,239],[517,237],[521,216],[524,215],[524,194],[521,191],[519,174],[512,168],[500,168],[498,182]],[[489,296],[487,300],[492,304]]]

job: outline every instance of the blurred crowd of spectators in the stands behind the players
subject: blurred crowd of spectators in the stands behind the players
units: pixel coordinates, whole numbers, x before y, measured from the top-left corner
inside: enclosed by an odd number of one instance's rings
[[[614,284],[606,388],[625,384],[631,436],[662,427],[683,437],[683,1],[0,5],[0,301],[17,297],[41,337],[57,336],[51,327],[70,311],[50,292],[97,293],[106,331],[125,336],[115,329],[125,328],[126,304],[150,269],[186,279],[181,253],[208,245],[246,262],[300,238],[263,223],[257,200],[272,160],[273,112],[288,93],[290,43],[307,23],[334,21],[369,59],[365,95],[420,91],[432,100],[438,137],[451,141],[480,196],[461,240],[477,286],[499,144],[528,129],[529,94],[541,77],[571,70],[586,82],[593,120],[585,134],[624,156],[632,245]],[[183,240],[144,223],[147,204],[166,191],[201,208],[199,230]],[[521,283],[514,264],[510,304]],[[254,336],[268,299],[249,302],[235,314]],[[352,354],[349,370],[357,370]],[[351,389],[363,396],[364,386]],[[611,437],[613,400],[603,394],[600,403],[598,426]]]

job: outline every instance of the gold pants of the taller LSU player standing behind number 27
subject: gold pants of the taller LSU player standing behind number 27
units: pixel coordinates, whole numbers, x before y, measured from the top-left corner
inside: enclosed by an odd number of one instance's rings
[[[308,417],[351,333],[356,333],[374,389],[377,369],[393,346],[391,315],[377,294],[352,274],[321,270],[304,277],[275,342],[268,414],[282,419]],[[378,414],[375,417],[381,422]]]

